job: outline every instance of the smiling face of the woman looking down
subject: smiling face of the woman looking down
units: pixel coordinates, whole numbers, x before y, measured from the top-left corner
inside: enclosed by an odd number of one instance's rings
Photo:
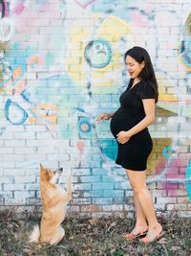
[[[138,61],[135,58],[132,58],[130,56],[127,56],[125,59],[125,65],[127,68],[127,71],[129,72],[129,75],[132,79],[138,78],[138,75],[144,68],[144,61],[141,63],[138,63]]]

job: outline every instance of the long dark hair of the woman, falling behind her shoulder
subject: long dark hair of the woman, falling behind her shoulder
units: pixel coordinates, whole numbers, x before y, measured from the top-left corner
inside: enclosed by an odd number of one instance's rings
[[[144,48],[135,46],[125,53],[124,60],[126,60],[127,56],[134,58],[138,63],[144,61],[145,66],[138,75],[138,78],[151,84],[151,86],[155,90],[155,102],[157,103],[159,98],[158,81],[156,79],[153,64],[151,62],[149,54]]]

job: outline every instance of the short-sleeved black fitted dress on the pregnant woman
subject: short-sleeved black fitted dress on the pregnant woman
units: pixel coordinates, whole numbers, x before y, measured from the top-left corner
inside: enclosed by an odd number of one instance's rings
[[[121,94],[120,107],[110,123],[111,131],[116,139],[119,131],[135,127],[145,117],[142,100],[155,99],[155,91],[148,82],[139,81],[133,87],[132,83],[133,81],[130,81],[127,89]],[[153,149],[153,141],[148,128],[133,135],[125,144],[117,142],[117,146],[116,163],[118,165],[128,170],[146,170],[147,158]]]

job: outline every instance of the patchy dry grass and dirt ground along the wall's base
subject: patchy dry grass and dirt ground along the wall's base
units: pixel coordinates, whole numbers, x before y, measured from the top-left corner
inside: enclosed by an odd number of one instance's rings
[[[158,242],[127,242],[123,235],[134,226],[132,219],[110,217],[99,219],[67,218],[64,239],[54,246],[30,244],[29,235],[39,218],[29,213],[15,215],[0,212],[0,256],[190,256],[191,219],[176,215],[159,217],[165,234]]]

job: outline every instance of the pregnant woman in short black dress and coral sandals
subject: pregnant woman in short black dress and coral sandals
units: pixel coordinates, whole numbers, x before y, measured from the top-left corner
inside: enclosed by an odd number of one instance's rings
[[[136,225],[125,238],[144,236],[141,241],[147,244],[163,233],[146,185],[146,164],[153,148],[147,127],[155,120],[158,83],[145,49],[133,47],[125,53],[124,60],[131,79],[119,98],[120,107],[115,113],[101,113],[96,121],[111,119],[118,146],[116,163],[125,169],[134,193]]]

